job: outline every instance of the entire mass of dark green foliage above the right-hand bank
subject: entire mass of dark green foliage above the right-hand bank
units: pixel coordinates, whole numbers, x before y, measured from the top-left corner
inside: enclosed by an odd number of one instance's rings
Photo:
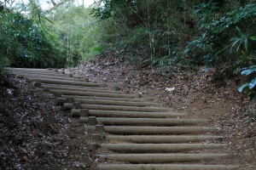
[[[254,72],[256,3],[253,1],[105,0],[91,14],[102,20],[102,51],[166,67],[207,65],[223,75]],[[252,79],[239,88],[255,98]]]

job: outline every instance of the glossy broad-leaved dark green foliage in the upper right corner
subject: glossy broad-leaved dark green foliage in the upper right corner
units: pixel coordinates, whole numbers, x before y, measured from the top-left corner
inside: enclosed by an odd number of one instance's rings
[[[218,3],[207,3],[207,6]],[[198,6],[199,7],[199,6]],[[208,13],[212,13],[212,8]],[[203,11],[198,9],[197,11]],[[248,66],[250,61],[242,60],[244,56],[251,55],[255,48],[255,16],[256,4],[247,4],[245,7],[237,6],[224,16],[215,14],[208,18],[208,13],[201,16],[201,37],[189,42],[186,52],[200,50],[204,60],[210,65],[223,67]],[[217,17],[219,19],[217,19]],[[206,20],[207,18],[207,20]]]

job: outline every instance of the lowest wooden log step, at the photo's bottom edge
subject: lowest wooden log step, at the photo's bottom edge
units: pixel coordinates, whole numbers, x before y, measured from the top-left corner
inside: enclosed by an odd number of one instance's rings
[[[239,166],[196,164],[99,164],[100,170],[236,170]]]

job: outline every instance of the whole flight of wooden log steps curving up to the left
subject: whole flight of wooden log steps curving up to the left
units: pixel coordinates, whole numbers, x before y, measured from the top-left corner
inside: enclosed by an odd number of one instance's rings
[[[64,70],[12,71],[54,94],[56,105],[70,110],[80,123],[95,127],[90,150],[96,150],[100,163],[91,169],[240,169],[218,163],[229,156],[228,150],[215,142],[222,137],[214,135],[217,129],[207,127],[205,119],[189,119],[138,94],[73,77]]]

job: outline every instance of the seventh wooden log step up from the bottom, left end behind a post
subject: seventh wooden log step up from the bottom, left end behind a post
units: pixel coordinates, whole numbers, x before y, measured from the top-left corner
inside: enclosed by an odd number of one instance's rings
[[[71,115],[80,115],[79,109],[71,110]],[[89,116],[97,117],[134,117],[134,118],[165,118],[186,116],[184,113],[177,112],[140,112],[140,111],[103,111],[103,110],[89,110]]]

